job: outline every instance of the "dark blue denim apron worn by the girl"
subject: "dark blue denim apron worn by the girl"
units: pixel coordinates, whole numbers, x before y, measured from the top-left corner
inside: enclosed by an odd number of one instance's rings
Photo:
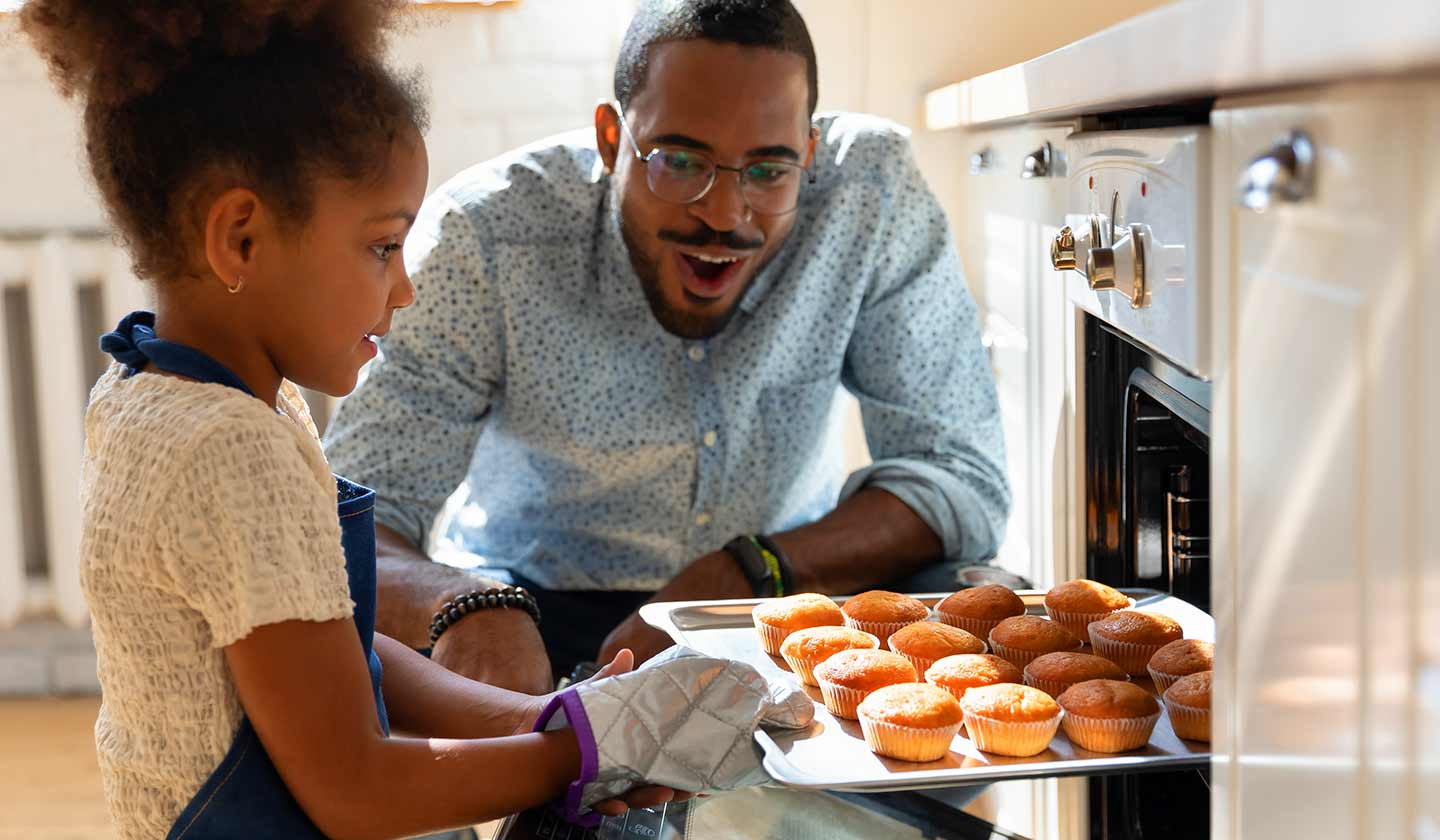
[[[127,376],[153,366],[251,393],[235,373],[215,359],[193,347],[157,339],[154,323],[156,316],[151,313],[131,313],[114,333],[101,336],[101,350],[125,365]],[[356,604],[356,630],[370,664],[370,689],[374,692],[380,729],[389,735],[390,723],[380,696],[380,658],[374,654],[374,491],[340,475],[336,475],[336,486],[340,542],[350,578],[350,599]],[[249,718],[242,716],[230,751],[180,813],[167,840],[255,837],[323,839],[324,833],[289,794]]]

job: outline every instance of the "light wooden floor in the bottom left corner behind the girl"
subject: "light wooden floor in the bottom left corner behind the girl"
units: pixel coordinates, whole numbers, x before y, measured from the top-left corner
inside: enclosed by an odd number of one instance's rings
[[[0,700],[0,840],[109,840],[99,697]]]

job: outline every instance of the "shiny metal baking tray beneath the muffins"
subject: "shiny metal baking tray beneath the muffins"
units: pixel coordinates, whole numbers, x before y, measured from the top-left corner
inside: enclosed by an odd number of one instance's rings
[[[1185,638],[1215,640],[1215,620],[1179,598],[1153,589],[1120,589],[1135,598],[1136,609],[1169,615],[1185,631]],[[1017,592],[1028,612],[1044,615],[1044,592]],[[914,595],[935,607],[945,592]],[[844,604],[845,598],[835,598]],[[801,730],[756,732],[755,739],[765,752],[765,769],[788,787],[832,791],[904,791],[952,787],[972,782],[995,782],[1018,778],[1103,775],[1116,772],[1145,772],[1178,769],[1210,762],[1210,745],[1181,741],[1171,729],[1169,718],[1159,723],[1145,749],[1107,755],[1080,749],[1066,739],[1064,729],[1056,733],[1050,749],[1030,758],[1009,758],[981,752],[965,736],[955,736],[950,754],[940,761],[912,764],[881,758],[865,746],[860,723],[835,718],[821,702],[819,690],[802,686],[785,660],[770,657],[760,648],[750,608],[759,599],[740,601],[672,601],[641,607],[641,618],[662,630],[677,644],[698,651],[747,661],[770,680],[788,680],[805,689],[815,700],[815,722]],[[1153,692],[1149,677],[1132,677],[1136,684]]]

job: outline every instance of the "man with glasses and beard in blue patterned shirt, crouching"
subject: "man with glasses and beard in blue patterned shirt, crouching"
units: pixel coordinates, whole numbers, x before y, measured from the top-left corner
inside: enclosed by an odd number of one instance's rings
[[[1009,506],[945,216],[903,131],[812,120],[795,9],[645,0],[615,98],[593,140],[431,196],[406,243],[416,304],[328,439],[379,493],[380,630],[438,635],[446,667],[528,692],[552,666],[668,645],[647,599],[854,592],[979,562]],[[848,480],[838,388],[876,458]],[[471,571],[422,552],[462,481],[441,542]],[[464,597],[487,578],[536,597],[539,633]]]

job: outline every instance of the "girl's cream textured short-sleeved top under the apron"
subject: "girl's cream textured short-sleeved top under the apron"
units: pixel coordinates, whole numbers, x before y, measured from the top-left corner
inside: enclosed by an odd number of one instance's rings
[[[300,392],[278,414],[223,385],[112,363],[91,390],[81,584],[104,702],[95,722],[120,837],[164,837],[230,748],[225,645],[287,620],[347,618],[336,481]]]

